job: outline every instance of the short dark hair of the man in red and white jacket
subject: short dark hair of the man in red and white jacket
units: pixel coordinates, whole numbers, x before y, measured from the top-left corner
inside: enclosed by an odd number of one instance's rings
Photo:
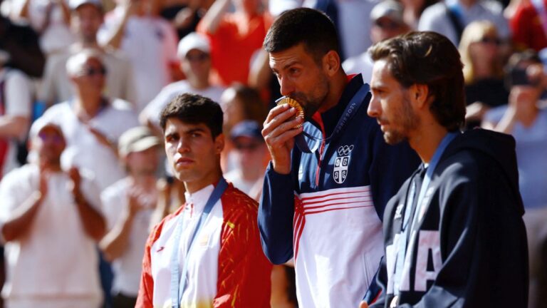
[[[213,138],[222,134],[222,109],[211,98],[190,93],[180,94],[160,113],[160,125],[164,131],[169,118],[177,118],[184,123],[204,123],[211,130]]]

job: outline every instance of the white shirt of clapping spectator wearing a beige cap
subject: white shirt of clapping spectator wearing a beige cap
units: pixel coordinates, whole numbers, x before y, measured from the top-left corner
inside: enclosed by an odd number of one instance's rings
[[[130,187],[131,179],[123,178],[100,194],[109,231],[113,229],[127,207],[127,192]],[[152,207],[140,210],[133,218],[127,250],[112,262],[114,270],[113,293],[121,292],[127,296],[137,297],[142,270],[142,255],[145,253],[152,212],[154,212]]]

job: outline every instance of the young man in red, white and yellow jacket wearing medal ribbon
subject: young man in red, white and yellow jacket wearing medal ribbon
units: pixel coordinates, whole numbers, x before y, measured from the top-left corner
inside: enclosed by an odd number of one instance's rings
[[[269,307],[271,265],[261,251],[258,205],[222,177],[221,108],[183,94],[160,124],[186,203],[152,230],[136,307]]]

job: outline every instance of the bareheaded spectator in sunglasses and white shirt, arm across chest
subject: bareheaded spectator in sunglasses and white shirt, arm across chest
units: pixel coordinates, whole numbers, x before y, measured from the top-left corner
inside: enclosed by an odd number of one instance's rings
[[[58,123],[68,147],[63,165],[76,165],[95,173],[100,190],[125,177],[115,144],[125,130],[138,125],[129,103],[103,96],[105,70],[100,53],[85,50],[66,63],[76,95],[46,111],[43,118]]]

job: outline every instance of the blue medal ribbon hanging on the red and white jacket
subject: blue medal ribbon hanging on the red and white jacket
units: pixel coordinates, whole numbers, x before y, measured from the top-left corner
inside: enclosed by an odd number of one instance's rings
[[[187,273],[188,273],[188,260],[190,256],[190,252],[192,252],[192,244],[194,243],[194,239],[199,233],[199,230],[201,230],[203,223],[207,220],[207,217],[209,217],[209,214],[211,213],[211,210],[213,209],[214,205],[217,204],[217,202],[220,200],[220,197],[228,187],[228,183],[226,183],[226,180],[224,178],[220,178],[219,183],[217,184],[217,187],[214,188],[213,193],[209,196],[209,199],[207,200],[207,203],[205,203],[205,207],[203,209],[202,215],[199,216],[199,220],[197,222],[196,228],[194,229],[194,232],[192,233],[192,236],[189,238],[188,242],[188,249],[186,252],[186,257],[184,258],[184,265],[182,267],[182,271],[179,270],[179,245],[180,245],[180,237],[182,232],[184,232],[184,226],[183,226],[183,213],[181,212],[181,215],[179,215],[177,220],[177,226],[174,229],[174,246],[173,246],[173,252],[171,255],[171,287],[170,287],[170,294],[171,294],[171,305],[172,308],[180,308],[180,302],[182,300],[182,294],[184,293],[184,289],[186,289],[187,286]]]

